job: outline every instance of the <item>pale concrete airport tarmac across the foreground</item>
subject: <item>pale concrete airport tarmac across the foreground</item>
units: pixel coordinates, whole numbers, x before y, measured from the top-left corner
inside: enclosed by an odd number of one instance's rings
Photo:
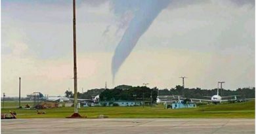
[[[255,119],[14,119],[1,133],[255,133]]]

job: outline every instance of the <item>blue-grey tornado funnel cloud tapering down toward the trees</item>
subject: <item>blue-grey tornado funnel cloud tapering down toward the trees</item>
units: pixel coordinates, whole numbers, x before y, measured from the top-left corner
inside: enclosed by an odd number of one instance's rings
[[[125,59],[131,54],[131,51],[139,41],[140,37],[146,32],[161,10],[167,7],[169,0],[150,0],[145,1],[135,11],[135,16],[127,27],[119,44],[117,44],[115,54],[112,58],[112,76],[113,82],[115,76]]]

